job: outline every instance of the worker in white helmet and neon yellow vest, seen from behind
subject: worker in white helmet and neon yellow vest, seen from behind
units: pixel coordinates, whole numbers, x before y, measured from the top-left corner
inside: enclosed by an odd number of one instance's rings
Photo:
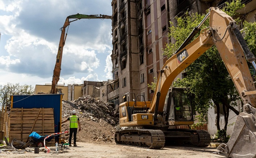
[[[70,121],[70,134],[69,134],[68,144],[69,144],[69,146],[72,146],[71,145],[71,139],[72,139],[72,135],[74,133],[74,146],[77,146],[76,145],[77,124],[79,126],[78,132],[81,131],[81,126],[80,126],[79,118],[78,118],[78,116],[76,116],[76,111],[75,110],[72,111],[72,116],[68,117],[62,123],[65,123],[67,121]]]

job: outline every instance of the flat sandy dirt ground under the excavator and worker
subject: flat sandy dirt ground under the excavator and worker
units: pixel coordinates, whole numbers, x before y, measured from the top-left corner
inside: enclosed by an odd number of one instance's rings
[[[114,142],[77,142],[77,147],[66,146],[59,153],[55,153],[54,147],[51,147],[50,153],[39,152],[0,152],[3,158],[223,158],[215,155],[216,148],[192,148],[182,146],[165,146],[163,149],[146,149],[132,146],[116,145]],[[42,150],[43,148],[41,148]]]

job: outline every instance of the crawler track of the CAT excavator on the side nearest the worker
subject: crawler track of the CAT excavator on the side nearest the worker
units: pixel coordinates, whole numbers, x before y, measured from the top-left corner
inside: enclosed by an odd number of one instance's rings
[[[160,149],[164,147],[165,136],[161,130],[130,128],[116,131],[115,141],[121,145]]]

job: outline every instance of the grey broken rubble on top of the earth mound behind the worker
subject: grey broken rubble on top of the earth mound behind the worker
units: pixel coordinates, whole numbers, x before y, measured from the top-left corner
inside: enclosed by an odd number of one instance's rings
[[[91,96],[81,96],[74,101],[63,101],[62,117],[69,117],[74,108],[79,118],[89,118],[92,121],[100,122],[104,119],[110,125],[117,125],[119,118],[113,116],[116,109],[106,101],[96,100]]]

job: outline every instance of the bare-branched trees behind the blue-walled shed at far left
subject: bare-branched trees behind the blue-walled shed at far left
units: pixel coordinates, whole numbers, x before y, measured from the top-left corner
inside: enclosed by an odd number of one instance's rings
[[[0,106],[3,110],[7,106],[7,111],[11,109],[11,95],[33,94],[34,87],[32,85],[20,85],[20,83],[7,83],[0,85]]]

